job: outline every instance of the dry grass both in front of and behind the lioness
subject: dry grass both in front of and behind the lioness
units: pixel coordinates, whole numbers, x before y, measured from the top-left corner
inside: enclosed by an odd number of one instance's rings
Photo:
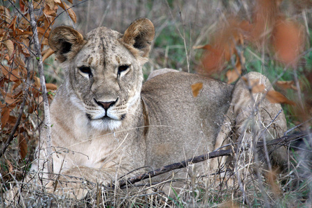
[[[311,19],[306,21],[306,17],[308,19],[311,17],[311,10],[296,10],[290,5],[290,1],[283,2],[282,8],[285,14],[300,19],[306,25],[306,29],[311,30]],[[195,71],[200,65],[201,51],[193,49],[193,46],[207,44],[209,34],[217,29],[218,21],[225,19],[229,14],[239,14],[250,19],[251,8],[252,3],[244,0],[107,0],[87,1],[74,8],[74,11],[79,23],[76,28],[84,33],[98,26],[107,26],[123,32],[138,17],[151,19],[155,24],[156,36],[150,62],[144,67],[144,73],[148,74],[150,71],[164,67],[180,71]],[[57,21],[58,24],[71,25],[66,15],[60,16]],[[273,60],[272,55],[263,55],[267,47],[262,46],[259,49],[262,54],[258,51],[248,53],[252,58],[246,64],[251,65],[250,68],[253,69],[258,67],[255,62],[263,63],[259,70],[275,79],[279,74],[270,75],[270,67],[266,64]],[[311,58],[311,55],[308,55],[308,58]],[[49,67],[46,67],[48,80],[60,85],[62,69],[53,62],[53,58],[48,60],[48,63]],[[40,116],[30,119],[34,127],[40,123]],[[289,125],[293,127],[298,124],[296,122],[292,119]],[[304,126],[309,129],[309,124],[311,125],[311,120],[310,123],[308,121],[302,125],[300,130],[303,130]],[[259,131],[252,132],[250,138],[261,137],[259,136],[261,130]],[[38,137],[38,132],[33,132],[33,137]],[[245,134],[239,137],[242,141],[243,138]],[[232,141],[233,146],[235,142]],[[101,184],[84,181],[81,187],[89,190],[87,197],[85,200],[73,200],[67,198],[66,194],[47,193],[44,186],[22,182],[33,161],[35,139],[28,143],[28,155],[22,161],[19,159],[17,141],[15,141],[0,161],[2,194],[0,207],[6,207],[4,199],[7,196],[3,191],[15,184],[19,184],[19,188],[22,187],[19,190],[24,194],[20,197],[14,196],[15,204],[12,207],[311,207],[311,135],[306,137],[305,142],[302,147],[294,150],[288,146],[290,153],[288,165],[283,170],[275,169],[268,164],[266,160],[266,154],[270,154],[268,150],[259,153],[259,149],[250,148],[248,151],[237,152],[227,166],[220,167],[223,171],[226,170],[225,173],[199,175],[193,166],[189,166],[185,178],[175,178],[184,182],[183,189],[172,189],[171,196],[167,196],[162,191],[164,184],[170,184],[171,179],[160,184],[150,184],[145,180],[130,185],[127,189],[110,189]],[[248,140],[243,141],[241,146],[249,143]]]

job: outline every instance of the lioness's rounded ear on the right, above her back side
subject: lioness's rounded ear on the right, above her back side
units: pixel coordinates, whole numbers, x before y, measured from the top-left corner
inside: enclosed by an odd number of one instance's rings
[[[147,57],[150,52],[150,43],[155,36],[153,23],[146,18],[134,21],[122,37],[123,43],[141,51],[142,57]]]

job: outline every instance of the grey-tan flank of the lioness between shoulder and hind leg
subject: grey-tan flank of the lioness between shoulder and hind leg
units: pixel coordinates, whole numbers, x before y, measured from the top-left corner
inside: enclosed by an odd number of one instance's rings
[[[196,83],[202,83],[202,89],[195,97],[191,85]],[[213,150],[232,88],[184,72],[163,73],[146,81],[141,96],[150,120],[148,137],[153,138],[147,140],[147,164],[162,166]]]

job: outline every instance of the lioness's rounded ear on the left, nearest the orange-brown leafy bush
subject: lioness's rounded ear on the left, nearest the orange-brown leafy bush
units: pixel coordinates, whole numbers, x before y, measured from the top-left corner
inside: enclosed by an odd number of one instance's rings
[[[60,62],[73,58],[84,43],[83,35],[69,26],[58,26],[49,36],[49,46]]]

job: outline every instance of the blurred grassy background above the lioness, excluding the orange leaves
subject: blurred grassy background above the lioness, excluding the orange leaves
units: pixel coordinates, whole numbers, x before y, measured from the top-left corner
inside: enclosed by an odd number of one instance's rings
[[[274,2],[278,3],[279,10],[287,18],[300,21],[308,35],[312,24],[311,1]],[[76,3],[78,5],[75,6]],[[156,34],[150,62],[144,67],[146,73],[165,67],[196,71],[202,63],[200,58],[203,51],[193,49],[193,46],[208,44],[220,28],[220,24],[228,21],[229,17],[239,17],[252,22],[254,8],[259,6],[257,1],[245,0],[95,0],[74,1],[73,5],[77,24],[74,24],[66,13],[62,13],[55,20],[55,25],[71,25],[83,34],[98,26],[106,26],[123,33],[131,22],[139,17],[147,17],[153,21]],[[273,8],[266,9],[276,12]],[[308,42],[309,40],[306,40],[306,43]],[[263,49],[267,48],[268,46],[263,46]],[[255,52],[261,52],[261,49]]]

